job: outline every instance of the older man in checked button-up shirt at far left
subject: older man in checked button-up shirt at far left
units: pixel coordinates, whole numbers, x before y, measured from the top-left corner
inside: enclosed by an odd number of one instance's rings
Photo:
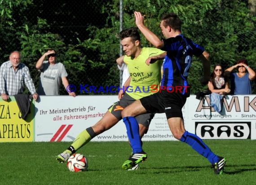
[[[4,101],[8,101],[9,96],[22,94],[24,84],[35,100],[38,94],[35,92],[35,85],[31,79],[28,67],[21,63],[21,53],[13,51],[9,61],[0,66],[0,93]]]

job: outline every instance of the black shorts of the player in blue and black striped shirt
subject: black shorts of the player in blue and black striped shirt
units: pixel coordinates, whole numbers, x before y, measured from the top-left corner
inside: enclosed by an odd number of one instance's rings
[[[167,119],[182,118],[182,107],[185,105],[187,96],[181,93],[154,93],[140,99],[147,113],[165,113]]]

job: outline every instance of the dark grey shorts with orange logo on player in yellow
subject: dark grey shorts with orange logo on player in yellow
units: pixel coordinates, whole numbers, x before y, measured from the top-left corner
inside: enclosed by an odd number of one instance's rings
[[[134,101],[136,101],[134,98],[130,97],[127,94],[124,94],[124,97],[120,99],[120,101],[115,102],[112,106],[108,108],[110,113],[114,115],[117,119],[122,119],[122,110],[124,110],[125,107],[132,104]],[[146,128],[149,127],[151,120],[154,118],[153,113],[146,113],[142,115],[137,115],[136,120],[139,124],[144,125]]]

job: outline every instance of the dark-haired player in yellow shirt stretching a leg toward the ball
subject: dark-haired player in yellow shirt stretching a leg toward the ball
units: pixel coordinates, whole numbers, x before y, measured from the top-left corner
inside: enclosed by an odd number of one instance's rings
[[[161,65],[166,53],[157,48],[142,48],[140,35],[137,28],[129,28],[120,32],[121,44],[125,53],[124,63],[128,66],[130,77],[124,84],[124,89],[119,92],[120,101],[110,106],[106,114],[92,127],[81,132],[75,141],[62,154],[57,156],[61,163],[66,162],[71,154],[74,154],[79,148],[88,143],[93,137],[112,128],[119,120],[122,119],[121,112],[124,107],[128,106],[135,100],[152,94],[152,85],[159,86],[161,80]],[[159,55],[154,64],[147,66],[146,59],[149,56]],[[124,93],[126,87],[129,90]],[[139,125],[139,137],[147,132],[151,119],[154,114],[143,114],[136,117]],[[137,169],[134,165],[130,169]]]

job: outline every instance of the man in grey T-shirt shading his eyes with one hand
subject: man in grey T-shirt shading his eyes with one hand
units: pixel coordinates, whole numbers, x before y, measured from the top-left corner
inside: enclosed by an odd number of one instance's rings
[[[47,57],[47,61],[44,59]],[[67,89],[69,82],[65,66],[57,62],[57,53],[54,49],[49,49],[40,57],[35,64],[36,69],[41,70],[38,93],[40,95],[59,95],[61,82]],[[75,97],[75,92],[69,92],[69,95]]]

